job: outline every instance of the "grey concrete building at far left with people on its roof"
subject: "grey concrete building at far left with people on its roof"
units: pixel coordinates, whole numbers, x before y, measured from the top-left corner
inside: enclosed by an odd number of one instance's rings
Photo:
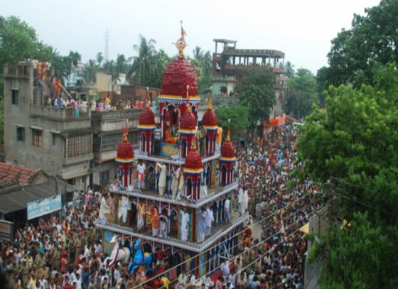
[[[91,111],[45,106],[50,81],[35,80],[33,67],[21,73],[4,65],[4,152],[7,163],[42,169],[77,189],[90,182]]]

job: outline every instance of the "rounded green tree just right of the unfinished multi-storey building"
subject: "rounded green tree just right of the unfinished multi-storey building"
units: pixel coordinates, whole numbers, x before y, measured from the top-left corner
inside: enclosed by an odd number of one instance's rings
[[[311,71],[300,68],[287,82],[284,111],[296,119],[311,113],[312,104],[318,102],[316,78]]]

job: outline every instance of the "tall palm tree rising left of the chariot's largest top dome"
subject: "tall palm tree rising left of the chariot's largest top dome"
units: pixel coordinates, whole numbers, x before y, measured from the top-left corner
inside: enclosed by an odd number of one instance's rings
[[[154,70],[155,44],[154,39],[146,40],[144,36],[140,35],[139,45],[134,45],[134,50],[138,55],[133,58],[128,76],[133,77],[139,84],[145,84]]]

